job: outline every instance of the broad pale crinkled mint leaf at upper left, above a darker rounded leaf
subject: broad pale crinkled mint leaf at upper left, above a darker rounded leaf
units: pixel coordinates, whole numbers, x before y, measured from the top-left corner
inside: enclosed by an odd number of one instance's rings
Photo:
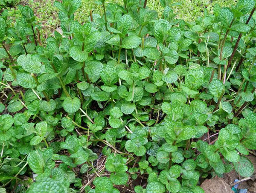
[[[30,73],[39,73],[41,68],[41,62],[37,55],[20,55],[17,58],[17,63],[20,65],[26,72]]]

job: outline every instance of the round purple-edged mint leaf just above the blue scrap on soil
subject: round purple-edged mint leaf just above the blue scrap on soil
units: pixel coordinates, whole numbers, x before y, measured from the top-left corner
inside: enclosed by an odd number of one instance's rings
[[[244,178],[250,177],[254,173],[254,168],[252,162],[244,156],[240,156],[240,160],[234,163],[235,170],[240,176]]]

